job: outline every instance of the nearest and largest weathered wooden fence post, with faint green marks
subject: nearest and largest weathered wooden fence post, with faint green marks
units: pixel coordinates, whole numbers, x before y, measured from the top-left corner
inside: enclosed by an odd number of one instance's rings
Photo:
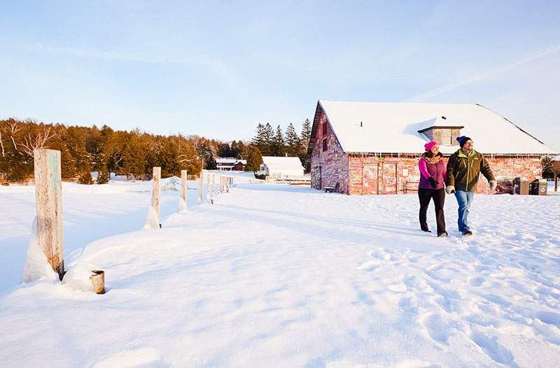
[[[59,279],[64,276],[62,181],[59,150],[34,150],[37,241]]]

